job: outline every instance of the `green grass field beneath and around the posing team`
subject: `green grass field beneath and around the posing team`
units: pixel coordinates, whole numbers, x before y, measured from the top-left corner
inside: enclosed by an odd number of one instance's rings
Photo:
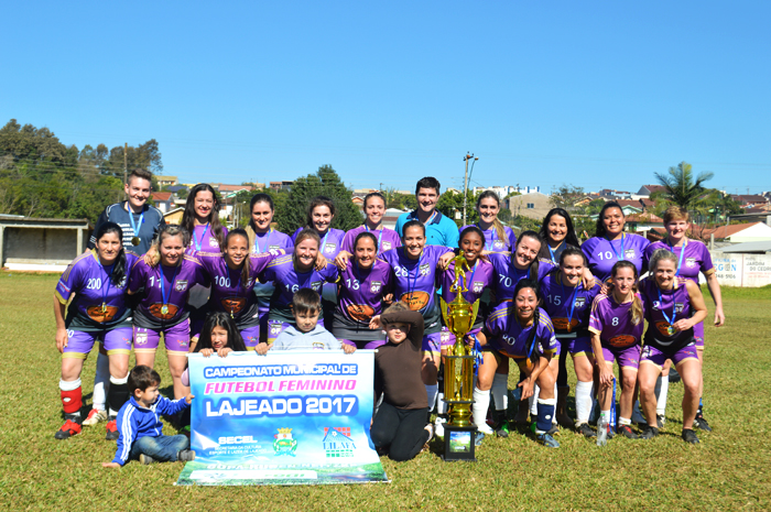
[[[175,487],[182,464],[102,469],[104,424],[59,442],[56,275],[0,273],[0,508],[13,510],[694,510],[771,509],[771,288],[724,291],[727,325],[706,329],[701,445],[680,438],[682,384],[670,388],[663,435],[605,448],[571,432],[547,449],[520,434],[485,439],[477,464],[435,453],[394,464],[391,483]],[[83,374],[90,403],[94,357]],[[170,393],[165,357],[156,369]],[[569,368],[569,363],[568,363]],[[510,384],[513,384],[513,375]],[[575,383],[575,377],[572,384]],[[165,433],[174,433],[170,426]]]

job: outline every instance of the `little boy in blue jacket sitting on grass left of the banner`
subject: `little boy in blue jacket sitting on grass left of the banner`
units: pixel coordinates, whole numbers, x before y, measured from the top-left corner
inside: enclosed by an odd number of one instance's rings
[[[129,459],[142,464],[167,460],[194,460],[195,451],[188,448],[191,442],[183,435],[164,436],[161,414],[176,414],[188,407],[193,395],[171,401],[159,396],[161,375],[155,370],[138,364],[129,373],[131,399],[118,413],[118,450],[111,462],[102,462],[106,468],[120,468]]]

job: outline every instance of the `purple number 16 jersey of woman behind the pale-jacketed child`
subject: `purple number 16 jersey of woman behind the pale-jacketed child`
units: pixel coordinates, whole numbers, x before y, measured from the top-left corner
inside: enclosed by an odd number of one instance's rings
[[[263,283],[272,281],[275,284],[269,318],[294,324],[290,304],[295,292],[300,288],[313,288],[316,293],[321,293],[322,285],[335,283],[337,276],[337,266],[332,264],[327,264],[321,271],[314,266],[307,272],[297,272],[294,269],[292,254],[274,259],[268,264],[260,277]]]

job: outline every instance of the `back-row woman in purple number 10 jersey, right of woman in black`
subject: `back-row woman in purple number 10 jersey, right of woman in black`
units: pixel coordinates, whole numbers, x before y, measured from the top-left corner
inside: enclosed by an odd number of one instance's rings
[[[649,241],[639,235],[623,231],[626,219],[621,206],[608,201],[599,210],[594,237],[584,242],[580,249],[589,260],[589,269],[597,279],[605,282],[617,261],[631,261],[638,275],[644,273],[644,255]]]

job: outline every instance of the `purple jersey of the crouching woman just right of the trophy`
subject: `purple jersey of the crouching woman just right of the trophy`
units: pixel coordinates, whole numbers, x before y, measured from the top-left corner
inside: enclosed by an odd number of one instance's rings
[[[549,313],[540,307],[539,323],[535,326],[522,327],[517,319],[513,304],[501,304],[496,307],[485,323],[490,347],[514,359],[528,358],[528,339],[533,328],[535,328],[534,349],[542,356],[556,353],[557,339],[554,336],[552,319]]]

